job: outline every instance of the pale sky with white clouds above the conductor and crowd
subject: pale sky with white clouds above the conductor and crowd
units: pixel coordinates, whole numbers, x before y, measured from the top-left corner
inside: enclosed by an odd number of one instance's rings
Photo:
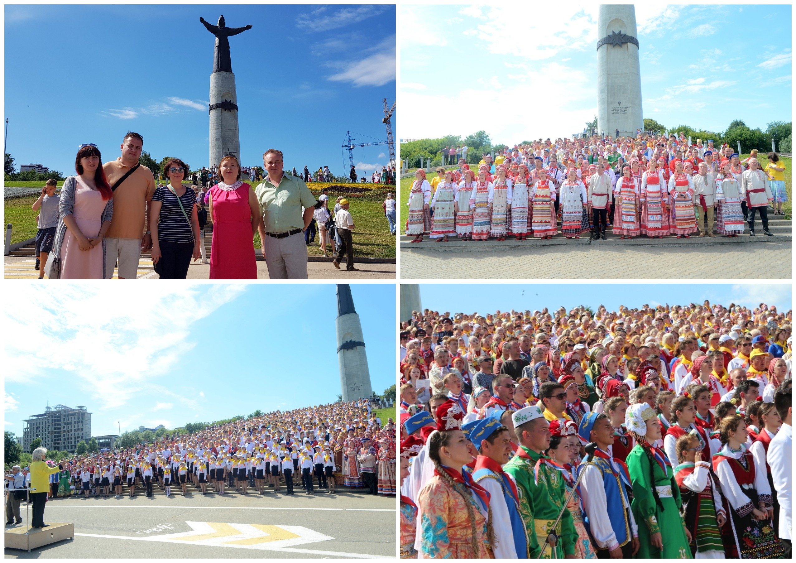
[[[85,405],[95,436],[298,409],[340,391],[336,286],[25,284],[6,302],[5,429]],[[373,390],[394,380],[395,285],[351,284]]]

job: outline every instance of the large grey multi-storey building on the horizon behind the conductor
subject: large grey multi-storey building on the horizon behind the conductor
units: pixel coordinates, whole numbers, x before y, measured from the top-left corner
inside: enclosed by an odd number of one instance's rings
[[[41,445],[49,450],[74,452],[80,440],[92,436],[92,413],[82,405],[72,409],[65,405],[47,407],[45,412],[23,420],[22,449],[29,452],[30,443],[41,438]]]

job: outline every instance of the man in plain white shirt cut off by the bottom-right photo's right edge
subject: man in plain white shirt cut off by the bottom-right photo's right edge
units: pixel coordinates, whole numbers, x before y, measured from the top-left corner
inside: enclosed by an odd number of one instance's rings
[[[786,381],[774,393],[774,405],[782,418],[782,426],[777,435],[771,439],[766,454],[768,466],[771,467],[771,480],[774,483],[774,490],[777,491],[777,501],[779,502],[778,536],[782,540],[782,545],[785,546],[785,554],[782,557],[786,559],[790,559],[792,531],[790,530],[790,502],[793,493],[793,475],[790,472],[790,442],[793,439],[793,429],[790,420],[792,412],[789,384],[790,381]]]

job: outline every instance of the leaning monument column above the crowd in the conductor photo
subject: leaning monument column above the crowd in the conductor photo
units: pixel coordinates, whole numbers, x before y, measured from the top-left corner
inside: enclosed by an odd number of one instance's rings
[[[368,357],[359,315],[353,308],[351,287],[338,283],[338,363],[343,401],[356,401],[373,396],[370,386]]]

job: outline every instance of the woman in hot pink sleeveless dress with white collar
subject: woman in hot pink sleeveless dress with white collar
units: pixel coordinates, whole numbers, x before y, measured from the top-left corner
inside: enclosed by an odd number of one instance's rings
[[[240,164],[232,155],[218,165],[221,181],[209,190],[213,244],[210,247],[211,280],[256,280],[254,233],[261,221],[252,186],[238,180]]]

